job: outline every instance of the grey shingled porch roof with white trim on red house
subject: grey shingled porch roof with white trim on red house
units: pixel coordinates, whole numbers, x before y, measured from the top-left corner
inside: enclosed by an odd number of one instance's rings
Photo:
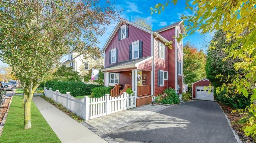
[[[105,67],[104,69],[101,69],[101,71],[110,71],[110,70],[118,70],[118,69],[126,69],[126,68],[137,68],[141,63],[144,63],[147,60],[150,60],[152,58],[153,58],[153,56],[149,56],[149,57],[144,57],[144,58],[139,58],[139,59],[118,62],[118,63],[115,63],[108,67]]]

